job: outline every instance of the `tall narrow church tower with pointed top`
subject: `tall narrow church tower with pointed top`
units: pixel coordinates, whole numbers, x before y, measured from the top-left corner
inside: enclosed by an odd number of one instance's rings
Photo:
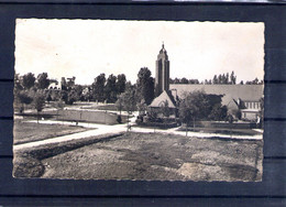
[[[167,51],[164,47],[157,55],[156,61],[156,76],[155,76],[155,97],[160,96],[164,90],[168,91],[169,89],[169,61]]]

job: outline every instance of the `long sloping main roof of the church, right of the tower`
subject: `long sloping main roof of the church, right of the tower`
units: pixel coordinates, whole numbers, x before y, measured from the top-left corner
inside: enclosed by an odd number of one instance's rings
[[[170,84],[169,89],[176,89],[178,97],[185,91],[204,90],[210,95],[223,95],[224,105],[231,98],[242,101],[258,101],[263,97],[263,85],[191,85],[191,84]]]

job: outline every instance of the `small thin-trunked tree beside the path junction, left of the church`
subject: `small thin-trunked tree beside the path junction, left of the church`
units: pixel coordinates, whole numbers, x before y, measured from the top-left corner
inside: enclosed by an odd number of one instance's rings
[[[127,88],[124,92],[119,96],[120,105],[128,112],[128,131],[130,129],[129,126],[129,115],[131,115],[134,110],[136,110],[136,96],[135,90],[133,88]]]

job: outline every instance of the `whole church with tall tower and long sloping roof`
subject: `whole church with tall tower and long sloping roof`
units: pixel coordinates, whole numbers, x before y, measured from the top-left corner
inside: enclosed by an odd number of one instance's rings
[[[163,43],[156,59],[155,99],[148,106],[158,109],[167,101],[173,116],[178,109],[178,100],[184,92],[202,90],[209,95],[222,96],[222,106],[230,113],[240,111],[243,120],[257,120],[262,110],[263,85],[204,85],[204,84],[169,84],[169,59]]]

